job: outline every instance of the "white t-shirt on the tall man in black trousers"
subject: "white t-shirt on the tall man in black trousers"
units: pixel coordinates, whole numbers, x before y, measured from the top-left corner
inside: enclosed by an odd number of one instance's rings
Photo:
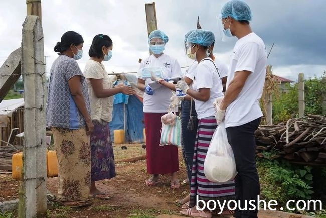
[[[265,67],[267,62],[266,47],[263,40],[255,33],[240,38],[231,55],[231,67],[226,89],[237,71],[252,72],[238,97],[227,107],[225,127],[236,127],[253,121],[263,114],[259,99],[265,83]]]

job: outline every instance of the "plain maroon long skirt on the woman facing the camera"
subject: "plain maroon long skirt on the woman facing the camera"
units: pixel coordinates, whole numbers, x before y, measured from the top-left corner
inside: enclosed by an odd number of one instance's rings
[[[160,146],[160,118],[166,113],[144,113],[146,129],[146,162],[149,174],[167,174],[179,171],[178,147]]]

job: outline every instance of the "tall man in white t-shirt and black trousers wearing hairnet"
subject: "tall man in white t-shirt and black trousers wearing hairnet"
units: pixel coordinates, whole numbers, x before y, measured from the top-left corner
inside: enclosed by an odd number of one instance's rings
[[[236,36],[238,41],[231,55],[225,97],[216,106],[216,119],[222,121],[225,116],[228,141],[238,171],[235,192],[236,201],[240,200],[240,205],[235,210],[234,217],[256,218],[260,186],[254,132],[263,115],[259,99],[265,82],[266,48],[263,40],[251,31],[251,10],[246,3],[239,0],[227,2],[221,10],[221,19],[224,34]],[[250,200],[254,200],[255,208],[248,205],[247,210],[241,211],[239,206],[245,208],[245,202]]]

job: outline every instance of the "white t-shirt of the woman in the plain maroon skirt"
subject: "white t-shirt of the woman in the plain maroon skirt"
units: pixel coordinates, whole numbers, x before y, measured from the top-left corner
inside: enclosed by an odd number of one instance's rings
[[[178,61],[166,54],[162,54],[158,58],[154,55],[150,55],[148,58],[141,61],[139,70],[144,67],[161,67],[163,71],[162,78],[171,78],[182,75]],[[137,75],[137,78],[145,80],[145,85],[152,83],[150,78],[144,79],[139,75]],[[163,85],[155,84],[155,86],[157,86],[157,88],[153,88],[153,95],[148,95],[144,92],[143,111],[147,113],[168,112],[171,103],[170,97],[173,93],[169,88]]]

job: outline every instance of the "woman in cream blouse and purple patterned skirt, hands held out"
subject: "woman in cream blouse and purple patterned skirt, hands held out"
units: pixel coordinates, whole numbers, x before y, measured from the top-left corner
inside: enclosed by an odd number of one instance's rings
[[[109,36],[96,35],[88,52],[91,58],[87,61],[84,71],[91,104],[91,118],[94,123],[94,132],[90,137],[92,173],[89,193],[91,197],[99,198],[108,196],[96,188],[95,181],[115,177],[114,154],[108,125],[112,120],[113,95],[135,93],[131,87],[122,84],[113,88],[112,81],[102,64],[102,61],[108,61],[112,57],[112,47]]]

